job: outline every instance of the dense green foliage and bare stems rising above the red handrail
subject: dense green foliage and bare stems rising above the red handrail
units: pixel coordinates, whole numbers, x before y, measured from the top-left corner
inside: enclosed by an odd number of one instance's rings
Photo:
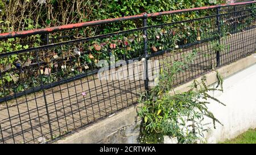
[[[45,3],[44,3],[45,2]],[[219,2],[221,3],[221,2]],[[0,0],[0,27],[2,32],[22,31],[33,28],[52,27],[81,21],[117,18],[142,12],[160,12],[214,5],[208,0],[179,1],[63,1],[63,0]],[[170,19],[162,18],[161,23]],[[115,30],[137,27],[133,21],[118,25]],[[104,28],[105,32],[109,31]]]

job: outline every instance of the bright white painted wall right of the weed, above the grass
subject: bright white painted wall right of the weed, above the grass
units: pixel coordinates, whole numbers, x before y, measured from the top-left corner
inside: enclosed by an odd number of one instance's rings
[[[213,96],[226,106],[210,101],[209,110],[224,126],[207,134],[208,143],[232,139],[249,128],[256,128],[256,64],[224,79],[224,92]],[[205,119],[205,122],[209,122]]]

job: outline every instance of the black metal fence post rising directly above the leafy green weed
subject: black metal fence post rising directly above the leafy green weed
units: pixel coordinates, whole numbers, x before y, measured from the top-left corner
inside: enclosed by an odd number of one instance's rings
[[[147,27],[147,13],[143,13],[143,27]],[[143,41],[143,45],[144,45],[144,48],[143,48],[143,51],[144,51],[144,58],[145,58],[145,61],[144,61],[144,78],[146,76],[146,79],[144,79],[144,85],[145,85],[145,91],[146,91],[146,94],[148,94],[148,91],[149,91],[149,87],[148,87],[148,59],[149,59],[149,55],[147,53],[147,28],[143,29],[143,35],[144,35],[144,41]]]

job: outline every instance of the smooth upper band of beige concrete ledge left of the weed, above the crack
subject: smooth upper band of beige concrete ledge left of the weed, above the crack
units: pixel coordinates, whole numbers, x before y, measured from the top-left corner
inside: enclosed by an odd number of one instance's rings
[[[115,131],[132,126],[134,123],[138,122],[139,120],[137,118],[137,106],[132,106],[125,110],[118,111],[118,113],[115,113],[112,117],[92,124],[55,143],[102,143],[102,140],[104,140],[106,136],[113,135]],[[116,141],[116,143],[118,143],[118,141]]]

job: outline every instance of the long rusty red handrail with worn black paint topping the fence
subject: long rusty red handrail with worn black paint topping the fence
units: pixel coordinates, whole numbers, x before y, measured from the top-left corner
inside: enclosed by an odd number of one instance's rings
[[[156,12],[156,13],[147,14],[147,18],[148,17],[161,16],[161,15],[177,14],[177,13],[181,13],[181,12],[207,10],[207,9],[217,8],[217,7],[247,5],[247,4],[253,4],[253,3],[256,3],[256,1],[230,3],[230,4],[215,5],[215,6],[204,6],[204,7],[196,7],[196,8],[187,8],[187,9],[182,9],[182,10],[173,10],[173,11],[164,11],[164,12]],[[30,35],[44,34],[44,33],[61,31],[61,30],[82,28],[82,27],[88,27],[88,26],[94,26],[94,25],[100,25],[100,24],[106,24],[106,23],[115,23],[115,22],[118,22],[118,21],[142,19],[142,18],[144,18],[144,14],[133,15],[133,16],[125,16],[125,17],[113,18],[113,19],[87,21],[87,22],[84,22],[84,23],[67,24],[67,25],[61,25],[61,26],[57,26],[57,27],[31,29],[31,30],[28,30],[28,31],[1,33],[0,34],[0,40],[7,39],[7,38],[14,38],[14,37],[24,37],[24,36],[30,36]]]

